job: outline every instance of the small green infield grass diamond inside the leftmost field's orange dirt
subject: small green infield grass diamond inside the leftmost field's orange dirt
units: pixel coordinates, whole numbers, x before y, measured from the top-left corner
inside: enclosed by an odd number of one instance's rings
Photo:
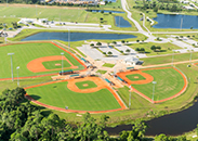
[[[48,61],[48,62],[42,62],[43,66],[47,69],[55,69],[55,68],[62,68],[62,60],[60,61]],[[55,65],[55,64],[61,64],[61,65]],[[63,66],[64,67],[70,67],[70,64],[67,61],[63,61]]]

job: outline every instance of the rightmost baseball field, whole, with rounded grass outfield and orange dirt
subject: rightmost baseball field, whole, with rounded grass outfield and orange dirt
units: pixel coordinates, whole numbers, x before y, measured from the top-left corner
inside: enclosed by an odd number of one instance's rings
[[[117,73],[131,89],[151,103],[181,95],[187,88],[185,75],[175,67],[157,67]]]

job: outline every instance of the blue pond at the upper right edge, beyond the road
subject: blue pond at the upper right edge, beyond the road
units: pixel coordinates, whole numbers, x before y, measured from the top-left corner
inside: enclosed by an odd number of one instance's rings
[[[158,24],[154,25],[154,28],[182,28],[198,29],[198,16],[196,15],[180,15],[180,14],[157,14],[154,18]]]

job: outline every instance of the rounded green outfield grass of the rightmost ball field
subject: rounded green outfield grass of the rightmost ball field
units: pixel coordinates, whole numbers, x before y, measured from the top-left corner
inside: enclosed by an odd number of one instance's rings
[[[155,101],[170,98],[180,92],[184,87],[184,79],[182,75],[173,68],[149,69],[143,70],[143,73],[151,75],[154,80],[157,81],[155,85]],[[153,82],[132,86],[148,98],[153,98]]]

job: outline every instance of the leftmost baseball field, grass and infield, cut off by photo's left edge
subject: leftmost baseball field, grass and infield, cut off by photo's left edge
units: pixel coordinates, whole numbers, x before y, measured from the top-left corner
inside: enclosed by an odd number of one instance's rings
[[[19,77],[25,76],[36,76],[43,74],[58,73],[62,68],[55,68],[53,60],[48,60],[48,57],[55,57],[62,60],[61,52],[64,50],[55,47],[50,42],[37,42],[37,43],[23,43],[23,44],[9,44],[0,47],[1,61],[0,64],[3,66],[0,72],[0,78],[11,77],[11,59],[8,53],[14,53],[13,59],[13,72],[14,77],[17,76],[16,67],[19,66]],[[43,60],[42,59],[47,59]],[[40,62],[38,62],[39,60]],[[69,61],[72,64],[75,69],[83,69],[84,67],[69,53],[64,52],[64,60]],[[35,61],[35,62],[34,62]],[[49,61],[52,61],[50,64],[54,66],[50,67]],[[44,67],[42,63],[44,62]],[[39,64],[40,63],[40,64]],[[45,64],[47,63],[47,64]],[[31,64],[31,65],[29,65]],[[36,66],[34,66],[34,64]],[[39,68],[40,66],[40,68]],[[70,69],[70,67],[64,67],[64,69]]]

